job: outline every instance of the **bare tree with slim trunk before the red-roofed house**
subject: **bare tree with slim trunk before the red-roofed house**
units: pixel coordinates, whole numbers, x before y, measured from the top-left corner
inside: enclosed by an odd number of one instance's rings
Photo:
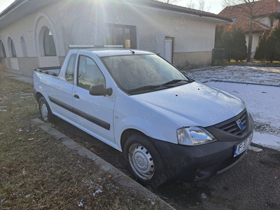
[[[254,3],[255,0],[223,0],[222,6],[235,6],[236,13],[243,13],[248,18],[248,51],[247,51],[247,62],[250,62],[251,60],[251,51],[252,51],[252,33],[253,33],[253,26],[261,20],[262,17],[256,18],[256,15],[260,12],[260,10],[264,9],[261,8],[255,8]],[[270,1],[272,3],[273,1]],[[268,3],[269,4],[269,3]],[[265,6],[268,6],[266,4]]]

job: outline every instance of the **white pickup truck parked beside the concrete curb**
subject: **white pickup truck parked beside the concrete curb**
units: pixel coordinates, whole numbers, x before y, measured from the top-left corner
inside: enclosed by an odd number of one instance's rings
[[[34,69],[41,118],[62,118],[125,155],[137,181],[199,181],[244,157],[244,102],[188,78],[152,52],[70,50],[61,69]]]

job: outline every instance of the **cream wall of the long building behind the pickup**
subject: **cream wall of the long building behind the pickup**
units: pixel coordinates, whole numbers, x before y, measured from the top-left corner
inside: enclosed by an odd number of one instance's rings
[[[67,3],[66,3],[67,2]],[[113,25],[136,26],[137,48],[165,56],[165,38],[174,40],[173,62],[186,69],[211,64],[217,22],[185,13],[107,1],[59,1],[34,11],[0,30],[6,62],[11,71],[31,76],[37,66],[62,64],[69,44],[105,45]],[[48,27],[57,56],[44,56],[40,31]],[[27,57],[23,57],[21,37]],[[17,58],[8,53],[8,37],[15,43]]]

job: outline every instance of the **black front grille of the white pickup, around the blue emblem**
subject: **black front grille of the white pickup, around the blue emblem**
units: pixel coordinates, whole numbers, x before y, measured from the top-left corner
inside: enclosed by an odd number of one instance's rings
[[[215,125],[216,128],[223,130],[224,132],[228,132],[230,134],[236,135],[236,136],[241,136],[243,132],[246,130],[247,127],[247,118],[248,114],[246,112],[246,109],[239,113],[238,116],[235,118],[231,118],[230,120],[227,120],[223,123],[220,123],[218,125]],[[237,125],[237,120],[240,120],[242,125],[243,125],[243,130],[239,128]]]

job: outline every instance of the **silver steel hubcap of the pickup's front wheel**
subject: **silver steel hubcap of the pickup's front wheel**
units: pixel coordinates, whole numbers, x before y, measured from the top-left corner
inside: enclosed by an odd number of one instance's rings
[[[137,176],[145,180],[149,180],[153,177],[155,173],[153,158],[144,146],[133,144],[130,147],[128,158]]]

